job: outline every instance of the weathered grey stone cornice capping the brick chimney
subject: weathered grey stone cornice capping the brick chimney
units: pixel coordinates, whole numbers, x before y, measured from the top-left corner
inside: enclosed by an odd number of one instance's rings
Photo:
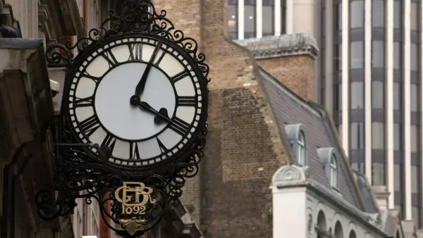
[[[234,42],[250,49],[256,59],[300,55],[317,58],[319,54],[316,40],[305,33],[235,40]]]

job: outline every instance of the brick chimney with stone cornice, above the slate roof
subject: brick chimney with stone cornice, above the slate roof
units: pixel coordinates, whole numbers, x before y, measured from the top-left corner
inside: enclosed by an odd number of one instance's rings
[[[254,54],[257,63],[303,99],[316,101],[315,60],[319,49],[309,34],[235,41]]]

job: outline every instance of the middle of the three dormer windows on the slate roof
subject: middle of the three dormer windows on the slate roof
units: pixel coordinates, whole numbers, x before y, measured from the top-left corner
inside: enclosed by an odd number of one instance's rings
[[[329,180],[329,184],[331,184],[331,187],[334,189],[338,189],[338,151],[333,147],[319,148],[317,149],[317,154],[320,157],[320,162]]]

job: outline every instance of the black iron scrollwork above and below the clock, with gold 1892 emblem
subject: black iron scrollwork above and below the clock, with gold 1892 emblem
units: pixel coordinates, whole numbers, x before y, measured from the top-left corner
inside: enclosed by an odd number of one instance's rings
[[[209,66],[204,63],[204,54],[198,53],[195,39],[185,37],[166,18],[166,11],[156,11],[150,0],[126,0],[121,11],[109,11],[99,29],[90,30],[87,37],[81,37],[75,44],[54,44],[47,48],[49,67],[66,67],[66,75],[72,68],[73,51],[83,54],[95,44],[116,35],[142,33],[158,35],[171,40],[198,64],[204,80],[209,75]],[[62,104],[63,105],[63,104]],[[66,118],[59,123],[59,142],[78,143],[71,130],[66,127]],[[106,225],[122,237],[140,237],[151,230],[164,215],[167,206],[178,206],[185,179],[194,177],[199,170],[206,144],[207,126],[192,144],[192,151],[184,160],[174,161],[149,172],[130,173],[103,163],[80,146],[57,146],[58,164],[56,191],[39,191],[36,194],[37,211],[40,218],[53,220],[68,215],[77,206],[75,199],[92,203],[95,199],[100,206]],[[128,195],[128,193],[130,195]],[[112,223],[108,222],[110,218]],[[115,224],[121,225],[118,229]]]

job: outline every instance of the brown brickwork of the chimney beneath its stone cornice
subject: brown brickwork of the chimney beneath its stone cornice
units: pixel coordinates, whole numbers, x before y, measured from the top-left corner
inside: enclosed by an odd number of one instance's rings
[[[260,59],[257,63],[303,99],[316,101],[314,58],[309,55]]]

